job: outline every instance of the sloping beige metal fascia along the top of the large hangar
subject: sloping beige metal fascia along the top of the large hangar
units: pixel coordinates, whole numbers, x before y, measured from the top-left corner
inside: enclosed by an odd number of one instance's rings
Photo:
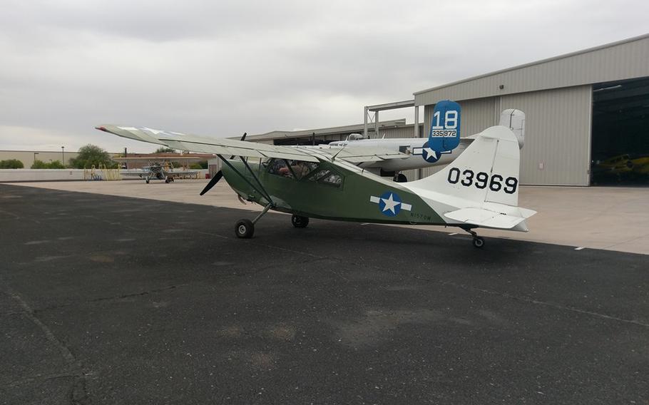
[[[414,93],[415,106],[649,76],[649,34]]]

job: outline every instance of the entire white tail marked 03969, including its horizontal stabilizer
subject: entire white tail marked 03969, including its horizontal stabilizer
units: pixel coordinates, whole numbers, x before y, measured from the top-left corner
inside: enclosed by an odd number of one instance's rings
[[[523,220],[536,212],[518,207],[519,159],[516,135],[496,125],[446,168],[405,185],[437,193],[451,222],[526,231]]]

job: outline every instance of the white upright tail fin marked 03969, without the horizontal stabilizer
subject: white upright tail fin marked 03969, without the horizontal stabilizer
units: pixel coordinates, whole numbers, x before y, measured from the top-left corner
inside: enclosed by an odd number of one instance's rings
[[[443,170],[406,184],[409,188],[444,194],[448,201],[440,202],[458,208],[491,209],[489,206],[499,204],[516,207],[519,159],[516,135],[509,128],[497,125],[477,135]]]

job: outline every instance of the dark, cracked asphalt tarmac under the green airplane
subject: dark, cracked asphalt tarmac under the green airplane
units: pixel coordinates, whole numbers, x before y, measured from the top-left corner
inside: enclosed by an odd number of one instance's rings
[[[2,404],[648,404],[646,255],[0,185]]]

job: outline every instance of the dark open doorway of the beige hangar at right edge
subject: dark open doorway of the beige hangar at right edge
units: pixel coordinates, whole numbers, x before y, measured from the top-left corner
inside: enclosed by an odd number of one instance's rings
[[[593,85],[591,185],[649,185],[649,77]]]

